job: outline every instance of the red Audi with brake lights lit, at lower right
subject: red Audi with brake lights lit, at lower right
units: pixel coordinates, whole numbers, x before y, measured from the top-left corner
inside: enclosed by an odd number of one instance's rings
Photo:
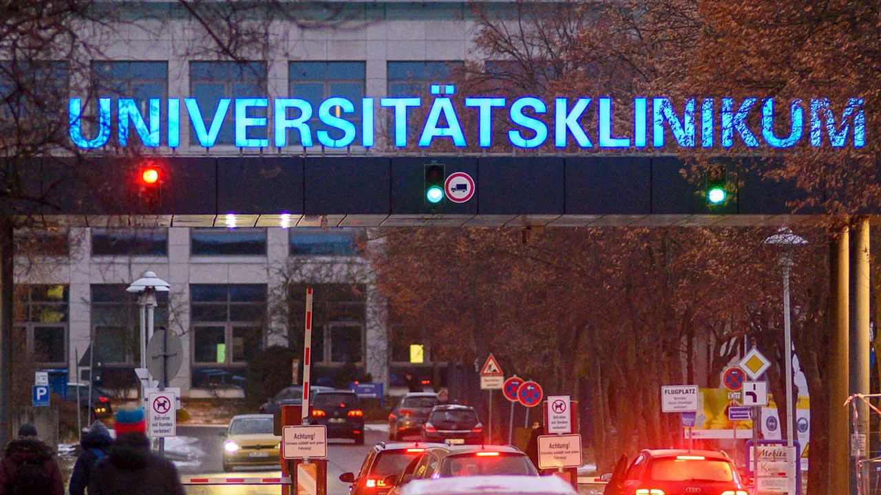
[[[609,477],[609,474],[603,475]],[[627,465],[621,456],[604,495],[727,493],[748,495],[728,454],[712,450],[643,450]]]

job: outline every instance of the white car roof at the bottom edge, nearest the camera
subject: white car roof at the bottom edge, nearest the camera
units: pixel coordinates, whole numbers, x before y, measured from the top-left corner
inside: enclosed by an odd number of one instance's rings
[[[401,495],[577,495],[559,477],[448,477],[413,480]]]

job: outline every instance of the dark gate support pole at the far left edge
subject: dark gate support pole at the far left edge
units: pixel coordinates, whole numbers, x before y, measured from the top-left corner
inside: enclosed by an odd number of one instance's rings
[[[9,220],[0,223],[0,448],[12,440],[12,292],[15,290],[14,229]]]

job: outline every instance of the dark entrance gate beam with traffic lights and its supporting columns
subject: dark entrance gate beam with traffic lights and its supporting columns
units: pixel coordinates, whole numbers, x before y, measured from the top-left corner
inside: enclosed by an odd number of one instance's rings
[[[132,187],[132,171],[144,160],[123,162],[93,159],[85,167],[92,173],[78,176],[56,159],[37,160],[23,180],[52,190],[39,191],[36,196],[46,201],[26,214],[44,225],[518,228],[773,226],[825,214],[819,209],[792,214],[788,203],[803,198],[793,184],[762,180],[759,164],[730,159],[717,165],[730,189],[727,202],[718,205],[701,194],[704,185],[683,178],[684,164],[670,156],[165,157],[149,162],[159,170],[159,184],[146,193],[149,197]],[[465,203],[426,202],[426,166],[440,166],[445,177],[469,174],[476,183],[473,196]],[[836,371],[829,382],[829,438],[839,439],[829,442],[833,493],[848,487],[848,443],[841,441],[848,438],[848,411],[841,404],[850,393],[870,392],[869,227],[878,213],[836,218],[839,232],[832,240],[831,366]],[[0,252],[4,394],[11,377],[10,253],[11,244]],[[3,399],[0,415],[8,418],[8,395]],[[860,416],[868,418],[865,412]],[[862,428],[868,432],[868,423]],[[8,429],[5,433],[11,435]]]

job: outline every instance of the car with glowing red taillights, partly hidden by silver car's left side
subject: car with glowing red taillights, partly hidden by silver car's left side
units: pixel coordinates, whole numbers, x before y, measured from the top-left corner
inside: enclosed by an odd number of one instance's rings
[[[441,446],[419,442],[380,442],[367,454],[357,476],[343,473],[339,480],[352,484],[350,495],[385,495],[394,485],[387,484],[386,478],[394,480],[429,447]]]

